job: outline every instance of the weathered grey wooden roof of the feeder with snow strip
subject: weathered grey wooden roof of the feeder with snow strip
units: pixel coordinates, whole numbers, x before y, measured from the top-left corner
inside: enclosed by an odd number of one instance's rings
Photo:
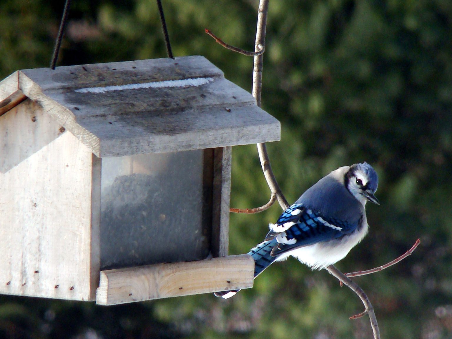
[[[26,97],[100,157],[280,139],[280,123],[203,56],[17,71],[0,115]]]

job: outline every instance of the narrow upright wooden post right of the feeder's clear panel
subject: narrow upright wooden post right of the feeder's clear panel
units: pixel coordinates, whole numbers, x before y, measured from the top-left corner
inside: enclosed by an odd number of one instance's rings
[[[231,198],[232,147],[214,150],[212,255],[226,257],[229,252],[229,206]]]

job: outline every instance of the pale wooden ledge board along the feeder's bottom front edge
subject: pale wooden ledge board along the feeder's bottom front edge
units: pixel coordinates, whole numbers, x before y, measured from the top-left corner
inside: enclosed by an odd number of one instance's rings
[[[253,275],[254,260],[248,254],[112,269],[100,273],[96,303],[116,305],[250,288],[253,287]]]

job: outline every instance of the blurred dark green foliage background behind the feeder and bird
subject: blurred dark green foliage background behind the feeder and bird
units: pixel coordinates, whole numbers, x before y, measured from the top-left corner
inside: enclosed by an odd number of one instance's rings
[[[253,49],[258,1],[163,0],[175,56],[201,54],[251,88],[252,58],[223,49],[211,29]],[[0,75],[50,63],[61,1],[0,1]],[[165,57],[155,1],[73,1],[59,65]],[[367,161],[381,206],[369,235],[338,263],[372,268],[422,244],[405,261],[356,278],[382,338],[452,337],[452,2],[270,1],[264,109],[282,122],[268,145],[289,202],[342,165]],[[233,151],[234,207],[269,197],[255,146]],[[230,252],[261,241],[278,206],[232,215]],[[0,296],[2,338],[369,338],[353,292],[293,259],[228,301],[212,295],[125,306]]]

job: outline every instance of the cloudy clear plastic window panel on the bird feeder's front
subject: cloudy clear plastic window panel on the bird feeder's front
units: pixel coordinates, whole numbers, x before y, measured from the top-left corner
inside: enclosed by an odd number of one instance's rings
[[[204,259],[212,182],[203,150],[102,158],[102,269]]]

